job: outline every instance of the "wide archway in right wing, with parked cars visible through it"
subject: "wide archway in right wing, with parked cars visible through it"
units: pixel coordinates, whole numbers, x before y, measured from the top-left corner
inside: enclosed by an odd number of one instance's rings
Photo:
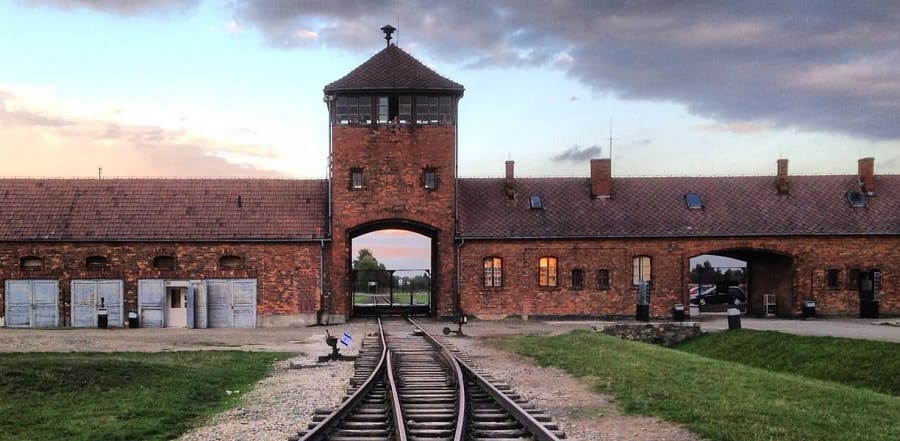
[[[709,250],[690,258],[691,312],[736,308],[755,317],[794,315],[794,258],[765,249]]]

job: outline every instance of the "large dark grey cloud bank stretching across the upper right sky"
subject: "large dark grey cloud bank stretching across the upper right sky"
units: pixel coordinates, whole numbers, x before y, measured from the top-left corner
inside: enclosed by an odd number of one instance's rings
[[[722,123],[900,139],[890,2],[262,0],[237,2],[234,14],[273,46],[360,53],[382,47],[377,29],[399,14],[400,45],[443,63],[548,66]]]

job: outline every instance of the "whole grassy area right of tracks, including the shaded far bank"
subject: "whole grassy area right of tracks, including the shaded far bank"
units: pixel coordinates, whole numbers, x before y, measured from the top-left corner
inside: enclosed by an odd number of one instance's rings
[[[900,344],[772,334],[713,334],[684,350],[594,332],[501,345],[710,440],[900,439]]]

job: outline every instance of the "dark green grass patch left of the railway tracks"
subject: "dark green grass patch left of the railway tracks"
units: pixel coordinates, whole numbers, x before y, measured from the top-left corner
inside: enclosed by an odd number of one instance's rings
[[[287,354],[0,356],[0,440],[167,440],[238,402]],[[226,390],[240,394],[227,395]]]

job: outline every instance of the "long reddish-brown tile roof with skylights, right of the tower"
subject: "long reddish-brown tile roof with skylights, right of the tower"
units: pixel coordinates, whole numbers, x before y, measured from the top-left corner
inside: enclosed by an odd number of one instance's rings
[[[460,179],[463,238],[717,237],[900,234],[900,176],[875,177],[877,195],[853,208],[856,176],[790,176],[777,194],[774,176],[613,178],[612,197],[591,199],[588,178]],[[699,194],[702,210],[684,195]],[[539,194],[543,210],[529,209]]]

